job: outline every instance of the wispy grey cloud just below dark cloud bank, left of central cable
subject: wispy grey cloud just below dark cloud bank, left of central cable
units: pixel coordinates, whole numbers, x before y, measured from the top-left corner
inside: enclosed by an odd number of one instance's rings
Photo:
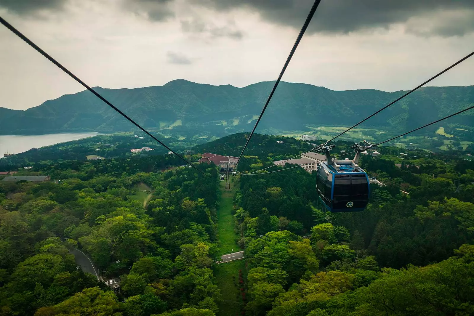
[[[184,33],[208,34],[212,38],[230,37],[233,39],[242,39],[242,32],[235,28],[235,25],[228,24],[218,27],[212,23],[193,18],[191,20],[182,20],[181,29]]]

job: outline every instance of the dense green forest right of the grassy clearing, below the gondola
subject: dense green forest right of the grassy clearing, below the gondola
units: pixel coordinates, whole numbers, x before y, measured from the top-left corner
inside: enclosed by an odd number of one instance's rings
[[[316,172],[240,177],[235,219],[248,265],[246,313],[473,315],[474,162],[379,151],[360,162],[385,184],[371,185],[362,212],[321,209]],[[262,153],[243,164],[255,171],[272,163]]]

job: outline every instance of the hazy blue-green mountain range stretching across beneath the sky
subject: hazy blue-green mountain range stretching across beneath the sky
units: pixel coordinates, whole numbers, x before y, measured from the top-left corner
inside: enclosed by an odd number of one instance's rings
[[[237,88],[174,80],[146,88],[94,89],[146,128],[173,128],[182,135],[208,132],[223,136],[251,129],[272,86],[271,81]],[[310,84],[281,82],[259,125],[259,132],[275,134],[307,130],[306,126],[352,125],[403,93],[334,91]],[[473,103],[474,86],[421,88],[363,126],[391,131],[412,129]],[[474,111],[450,118],[448,123],[472,130]],[[429,131],[433,133],[434,128]],[[2,135],[131,129],[129,122],[87,90],[48,100],[24,111],[0,107]]]

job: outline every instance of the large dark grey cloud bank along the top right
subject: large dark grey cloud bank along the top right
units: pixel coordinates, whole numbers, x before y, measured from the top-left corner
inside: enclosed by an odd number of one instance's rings
[[[313,0],[191,0],[195,4],[217,10],[248,8],[270,22],[300,28]],[[444,18],[448,10],[462,10],[462,18]],[[474,30],[474,0],[322,0],[310,32],[349,33],[389,27],[410,18],[437,14],[430,28],[411,27],[417,35],[454,36]],[[420,28],[422,31],[420,31]],[[422,34],[420,34],[422,33]]]

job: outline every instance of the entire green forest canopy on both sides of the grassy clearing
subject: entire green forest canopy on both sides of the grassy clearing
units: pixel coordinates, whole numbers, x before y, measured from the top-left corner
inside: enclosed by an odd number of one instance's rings
[[[249,148],[242,170],[306,149],[257,141],[267,145]],[[205,148],[233,154],[219,144]],[[338,142],[335,152],[348,146]],[[371,187],[363,212],[324,212],[315,174],[301,168],[234,182],[247,266],[236,313],[474,313],[474,163],[449,152],[401,160],[398,148],[379,151],[360,163],[385,184]],[[216,168],[198,165],[207,178],[163,155],[57,158],[17,170],[58,183],[0,181],[2,315],[219,314]],[[133,199],[140,183],[153,190],[145,208]],[[120,291],[76,269],[71,247],[89,253],[105,278],[120,277]]]

